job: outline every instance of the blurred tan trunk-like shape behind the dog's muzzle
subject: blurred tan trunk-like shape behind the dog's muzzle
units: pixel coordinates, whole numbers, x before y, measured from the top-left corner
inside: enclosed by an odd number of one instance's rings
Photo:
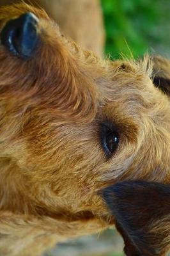
[[[0,5],[18,3],[20,0],[0,0]],[[99,0],[26,0],[42,6],[66,36],[70,36],[84,49],[102,56],[105,33]]]

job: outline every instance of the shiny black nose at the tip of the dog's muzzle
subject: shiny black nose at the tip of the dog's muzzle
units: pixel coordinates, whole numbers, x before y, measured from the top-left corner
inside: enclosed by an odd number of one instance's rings
[[[1,31],[1,44],[20,58],[30,58],[38,43],[37,24],[38,18],[33,13],[9,20]]]

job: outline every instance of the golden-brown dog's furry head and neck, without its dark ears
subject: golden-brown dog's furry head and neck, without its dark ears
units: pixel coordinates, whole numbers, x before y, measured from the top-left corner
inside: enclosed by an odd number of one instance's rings
[[[82,51],[26,4],[1,8],[0,28],[1,255],[39,255],[114,223],[106,186],[169,183],[169,97],[153,84],[169,80],[158,59]]]

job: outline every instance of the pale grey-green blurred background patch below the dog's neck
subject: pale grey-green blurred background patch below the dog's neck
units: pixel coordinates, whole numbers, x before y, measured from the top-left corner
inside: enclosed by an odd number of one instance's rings
[[[84,236],[59,244],[43,256],[123,256],[123,240],[116,230],[95,236]]]

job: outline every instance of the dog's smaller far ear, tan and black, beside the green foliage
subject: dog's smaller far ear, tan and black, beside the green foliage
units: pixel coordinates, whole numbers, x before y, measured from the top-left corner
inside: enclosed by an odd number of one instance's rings
[[[160,56],[153,59],[153,84],[170,95],[170,61]]]

